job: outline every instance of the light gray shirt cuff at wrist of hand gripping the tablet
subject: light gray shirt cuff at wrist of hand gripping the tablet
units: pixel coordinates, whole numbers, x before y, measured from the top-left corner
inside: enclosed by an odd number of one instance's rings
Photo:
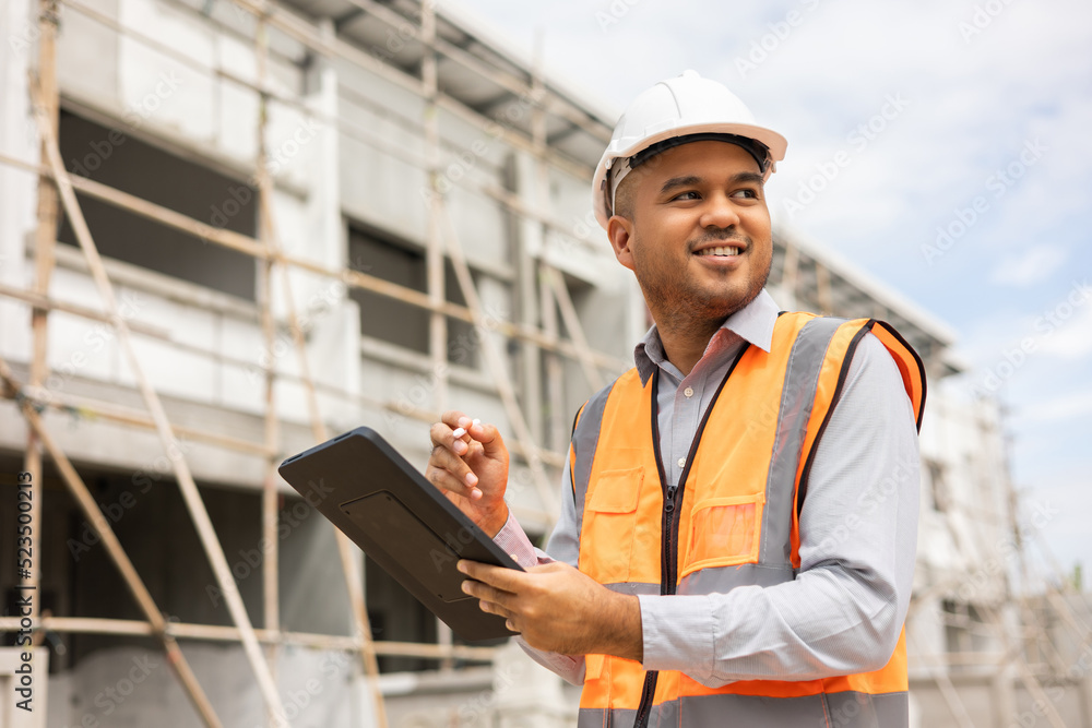
[[[711,679],[716,617],[708,596],[638,595],[645,670],[679,670]]]

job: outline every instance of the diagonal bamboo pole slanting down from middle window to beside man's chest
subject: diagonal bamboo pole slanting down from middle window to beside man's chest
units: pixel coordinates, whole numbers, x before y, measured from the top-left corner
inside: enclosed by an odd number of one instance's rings
[[[551,520],[556,520],[556,514],[558,512],[557,497],[555,496],[554,489],[550,487],[549,479],[546,477],[545,469],[543,468],[542,453],[531,438],[531,430],[527,427],[527,422],[523,417],[523,411],[520,408],[519,399],[515,396],[515,387],[512,385],[512,378],[508,372],[505,358],[498,350],[497,343],[494,341],[491,332],[489,331],[490,326],[488,325],[482,310],[482,299],[478,297],[477,287],[474,285],[474,278],[471,276],[470,266],[466,264],[466,259],[463,256],[463,250],[459,243],[459,237],[455,231],[454,223],[452,222],[451,215],[448,213],[446,205],[441,206],[441,211],[443,215],[443,227],[447,232],[444,241],[448,248],[448,255],[451,258],[451,264],[455,268],[455,278],[459,281],[459,287],[462,289],[463,298],[466,299],[467,306],[470,306],[471,311],[474,312],[475,325],[478,326],[482,332],[482,350],[485,354],[489,371],[497,381],[500,399],[505,405],[505,411],[508,415],[508,422],[515,433],[517,447],[531,468],[531,476],[534,480],[535,488],[538,490],[538,499],[542,503],[543,510],[551,514]]]

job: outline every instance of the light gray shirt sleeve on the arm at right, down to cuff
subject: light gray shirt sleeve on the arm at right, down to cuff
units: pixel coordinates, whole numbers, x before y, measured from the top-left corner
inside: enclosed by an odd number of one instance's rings
[[[881,668],[910,605],[919,480],[913,407],[898,367],[869,334],[816,453],[796,578],[639,597],[644,668],[681,670],[711,688]]]

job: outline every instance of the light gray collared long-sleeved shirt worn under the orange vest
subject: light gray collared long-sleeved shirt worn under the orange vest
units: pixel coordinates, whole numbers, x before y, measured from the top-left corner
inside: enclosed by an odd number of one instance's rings
[[[733,313],[682,375],[655,327],[637,346],[642,381],[658,368],[664,472],[678,481],[690,442],[732,361],[749,343],[769,351],[778,306],[764,290]],[[577,565],[579,524],[569,469],[547,554],[510,516],[496,542],[523,565]],[[681,670],[709,687],[736,680],[814,680],[887,664],[910,605],[917,545],[917,430],[902,378],[878,338],[865,336],[819,442],[800,513],[800,569],[792,582],[728,594],[640,596],[643,666]],[[583,656],[517,641],[571,683]]]

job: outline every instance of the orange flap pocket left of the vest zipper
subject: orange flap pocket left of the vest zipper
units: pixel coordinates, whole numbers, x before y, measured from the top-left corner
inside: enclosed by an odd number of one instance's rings
[[[644,468],[608,470],[595,478],[584,503],[580,570],[601,584],[628,582],[637,504]]]

